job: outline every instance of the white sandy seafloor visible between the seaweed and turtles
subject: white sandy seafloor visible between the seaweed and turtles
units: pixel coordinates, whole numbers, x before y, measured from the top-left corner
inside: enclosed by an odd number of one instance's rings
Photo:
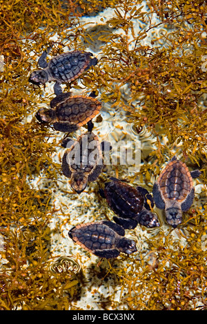
[[[146,8],[143,8],[143,10],[146,11]],[[107,9],[103,10],[103,12],[99,12],[95,17],[83,17],[82,20],[83,23],[90,23],[90,27],[88,27],[89,30],[107,30],[109,27],[106,21],[112,16],[113,10]],[[139,32],[139,28],[143,26],[137,25],[135,27],[137,27],[135,32]],[[157,33],[159,33],[159,29],[157,29]],[[144,39],[143,42],[150,43],[150,35],[149,38]],[[98,59],[100,45],[102,44],[97,40],[88,48],[88,50],[93,52]],[[46,92],[53,93],[53,85],[54,83],[50,83],[49,87],[46,88]],[[72,92],[75,93],[73,89]],[[122,92],[123,96],[126,97],[128,89],[123,88]],[[101,123],[94,121],[95,128],[93,132],[99,136],[100,141],[106,140],[112,143],[112,156],[116,157],[116,143],[120,140],[125,141],[125,143],[127,141],[133,141],[133,143],[137,143],[137,148],[141,145],[142,161],[148,157],[148,154],[150,154],[152,150],[156,149],[153,146],[152,136],[150,136],[147,130],[142,130],[139,135],[132,130],[132,126],[126,122],[124,110],[111,108],[110,103],[103,103],[100,114],[103,121]],[[83,132],[86,132],[86,128],[81,128],[81,130],[72,134],[72,137],[77,138]],[[61,139],[63,133],[56,132],[54,136]],[[52,138],[50,140],[52,140]],[[53,159],[57,163],[61,163],[61,156],[63,156],[64,149],[59,147],[57,151]],[[139,166],[137,166],[137,168],[139,168]],[[120,179],[128,179],[128,168],[125,165],[121,168],[119,167],[118,170]],[[130,175],[132,175],[132,173]],[[114,213],[110,210],[106,201],[98,194],[99,187],[102,186],[103,188],[104,182],[107,181],[110,176],[117,176],[115,165],[106,165],[97,182],[89,183],[86,190],[81,194],[74,194],[74,192],[72,192],[69,179],[66,179],[62,174],[59,174],[57,181],[51,181],[45,178],[36,178],[32,181],[34,187],[43,190],[48,189],[52,192],[52,221],[50,223],[52,229],[50,249],[52,251],[52,256],[72,256],[75,260],[79,260],[79,265],[84,275],[84,285],[81,286],[81,297],[78,301],[73,302],[73,306],[81,310],[118,310],[125,308],[121,303],[121,296],[124,296],[127,290],[121,290],[121,285],[119,285],[116,280],[116,276],[108,274],[107,269],[110,267],[108,261],[103,260],[99,265],[100,259],[97,256],[89,254],[68,237],[70,228],[79,223],[102,221],[105,219],[112,220]],[[135,179],[134,184],[139,184],[139,179]],[[155,208],[155,212],[160,214],[161,211]],[[155,234],[158,230],[159,228],[146,230],[139,225],[135,230],[126,230],[126,237],[137,241],[138,251],[133,254],[133,258],[139,259],[139,253],[141,252],[143,255],[146,255],[146,259],[148,259],[149,251],[145,236],[150,238],[150,236]],[[169,227],[162,224],[162,230],[169,232]],[[175,230],[174,233],[175,239],[177,239],[177,230]],[[182,236],[180,237],[184,240]],[[112,263],[113,266],[117,265],[117,267],[119,267],[119,257],[116,260],[110,261],[110,263]],[[121,267],[122,266],[124,267],[124,265],[121,265]]]

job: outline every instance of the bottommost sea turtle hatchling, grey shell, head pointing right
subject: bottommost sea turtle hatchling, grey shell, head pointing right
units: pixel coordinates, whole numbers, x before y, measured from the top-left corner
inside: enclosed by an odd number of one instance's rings
[[[101,258],[117,258],[120,252],[137,252],[135,241],[124,237],[124,228],[111,221],[80,224],[68,232],[72,241]]]

